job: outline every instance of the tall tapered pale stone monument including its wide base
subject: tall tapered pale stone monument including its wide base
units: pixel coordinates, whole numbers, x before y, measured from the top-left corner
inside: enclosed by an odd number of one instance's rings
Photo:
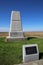
[[[25,39],[22,31],[20,11],[11,12],[10,31],[7,40]]]

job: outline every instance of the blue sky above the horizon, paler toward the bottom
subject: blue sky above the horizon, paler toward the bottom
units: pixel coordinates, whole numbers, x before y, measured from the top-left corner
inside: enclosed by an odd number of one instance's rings
[[[12,10],[21,12],[23,31],[43,31],[43,0],[0,0],[0,32],[9,31]]]

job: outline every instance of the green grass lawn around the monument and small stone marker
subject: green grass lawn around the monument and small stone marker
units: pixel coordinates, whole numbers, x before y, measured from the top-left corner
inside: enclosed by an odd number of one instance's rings
[[[37,43],[43,58],[43,38],[29,38],[29,40],[5,42],[0,38],[0,65],[13,65],[22,63],[22,46]]]

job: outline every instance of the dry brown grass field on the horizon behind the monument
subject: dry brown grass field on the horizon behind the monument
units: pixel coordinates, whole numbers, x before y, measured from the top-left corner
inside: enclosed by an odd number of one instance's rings
[[[0,36],[8,36],[8,32],[0,32]],[[43,37],[43,32],[24,32],[25,37],[29,36],[41,36]]]

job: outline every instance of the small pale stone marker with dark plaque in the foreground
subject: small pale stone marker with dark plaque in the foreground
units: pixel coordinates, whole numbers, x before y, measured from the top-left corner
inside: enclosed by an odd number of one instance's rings
[[[39,60],[37,44],[23,45],[23,62]]]

